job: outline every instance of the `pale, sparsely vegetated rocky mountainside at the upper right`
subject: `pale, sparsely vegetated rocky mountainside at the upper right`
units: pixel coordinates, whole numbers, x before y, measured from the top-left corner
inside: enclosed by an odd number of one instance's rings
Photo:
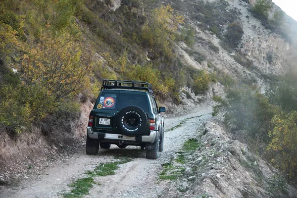
[[[296,38],[293,35],[297,22],[288,16],[285,16],[280,28],[290,32],[286,32],[293,38],[290,42],[288,38],[265,28],[261,20],[253,16],[253,1],[251,4],[242,0],[173,2],[174,7],[184,13],[187,22],[197,31],[197,42],[192,49],[178,44],[181,57],[187,64],[208,70],[212,65],[214,70],[253,82],[264,80],[263,75],[284,74],[296,66]],[[274,5],[270,15],[276,11]],[[237,48],[228,47],[225,38],[228,25],[233,22],[239,23],[243,29],[243,37]]]

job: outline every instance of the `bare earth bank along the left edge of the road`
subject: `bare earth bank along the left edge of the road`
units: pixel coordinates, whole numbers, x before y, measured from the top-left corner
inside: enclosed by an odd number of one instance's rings
[[[90,101],[82,104],[79,118],[64,118],[67,126],[48,126],[51,127],[50,134],[37,127],[18,136],[0,133],[0,184],[27,179],[32,171],[48,168],[52,162],[76,152],[76,146],[85,142],[92,108]]]

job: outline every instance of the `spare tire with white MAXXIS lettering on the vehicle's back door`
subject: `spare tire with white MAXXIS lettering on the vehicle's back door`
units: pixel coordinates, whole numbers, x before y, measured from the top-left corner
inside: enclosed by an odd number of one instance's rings
[[[117,128],[129,137],[141,135],[148,125],[148,117],[143,109],[138,106],[126,106],[118,112]]]

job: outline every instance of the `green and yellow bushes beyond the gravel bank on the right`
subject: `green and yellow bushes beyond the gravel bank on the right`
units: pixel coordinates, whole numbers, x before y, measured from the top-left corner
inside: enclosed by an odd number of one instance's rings
[[[215,97],[213,115],[222,114],[233,138],[281,169],[288,182],[297,178],[297,78],[294,71],[272,81],[265,94],[239,86]]]

